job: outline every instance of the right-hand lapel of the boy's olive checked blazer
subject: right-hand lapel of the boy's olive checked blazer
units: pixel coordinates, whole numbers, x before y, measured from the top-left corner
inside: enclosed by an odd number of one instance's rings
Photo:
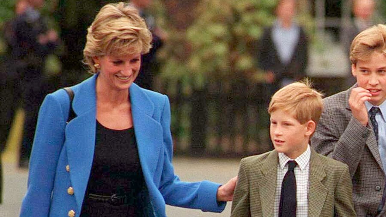
[[[326,173],[318,154],[311,149],[310,174],[309,174],[309,195],[308,195],[308,216],[319,216],[322,212],[328,190],[323,185],[322,180]]]

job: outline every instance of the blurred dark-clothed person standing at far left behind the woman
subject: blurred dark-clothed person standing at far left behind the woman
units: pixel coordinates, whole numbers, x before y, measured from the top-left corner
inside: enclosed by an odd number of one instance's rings
[[[25,4],[24,10],[21,10],[22,12],[12,24],[14,41],[11,49],[13,64],[18,76],[22,78],[21,97],[25,111],[19,166],[27,168],[39,106],[46,94],[42,83],[44,63],[47,54],[54,51],[59,40],[57,33],[47,28],[39,12],[44,5],[44,0],[22,2]]]

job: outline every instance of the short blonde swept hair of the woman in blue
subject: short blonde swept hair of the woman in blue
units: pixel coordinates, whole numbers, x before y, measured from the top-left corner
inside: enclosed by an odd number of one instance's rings
[[[103,6],[87,32],[83,62],[91,73],[97,72],[93,57],[146,54],[151,48],[152,35],[145,20],[127,3]]]

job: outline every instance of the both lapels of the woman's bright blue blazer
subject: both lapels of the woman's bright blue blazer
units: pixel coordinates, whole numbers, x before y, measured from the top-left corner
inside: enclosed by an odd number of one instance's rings
[[[72,87],[72,106],[76,117],[67,124],[65,132],[70,179],[78,207],[82,207],[94,158],[97,76]],[[161,124],[152,118],[154,104],[144,90],[133,83],[129,91],[142,171],[148,179],[152,178],[156,169],[163,131]]]

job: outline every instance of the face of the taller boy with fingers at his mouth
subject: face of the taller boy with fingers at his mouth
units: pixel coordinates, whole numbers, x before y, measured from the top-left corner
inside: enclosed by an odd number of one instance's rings
[[[372,105],[380,105],[386,99],[386,56],[375,51],[366,61],[358,60],[351,66],[352,75],[359,87],[369,90]]]

